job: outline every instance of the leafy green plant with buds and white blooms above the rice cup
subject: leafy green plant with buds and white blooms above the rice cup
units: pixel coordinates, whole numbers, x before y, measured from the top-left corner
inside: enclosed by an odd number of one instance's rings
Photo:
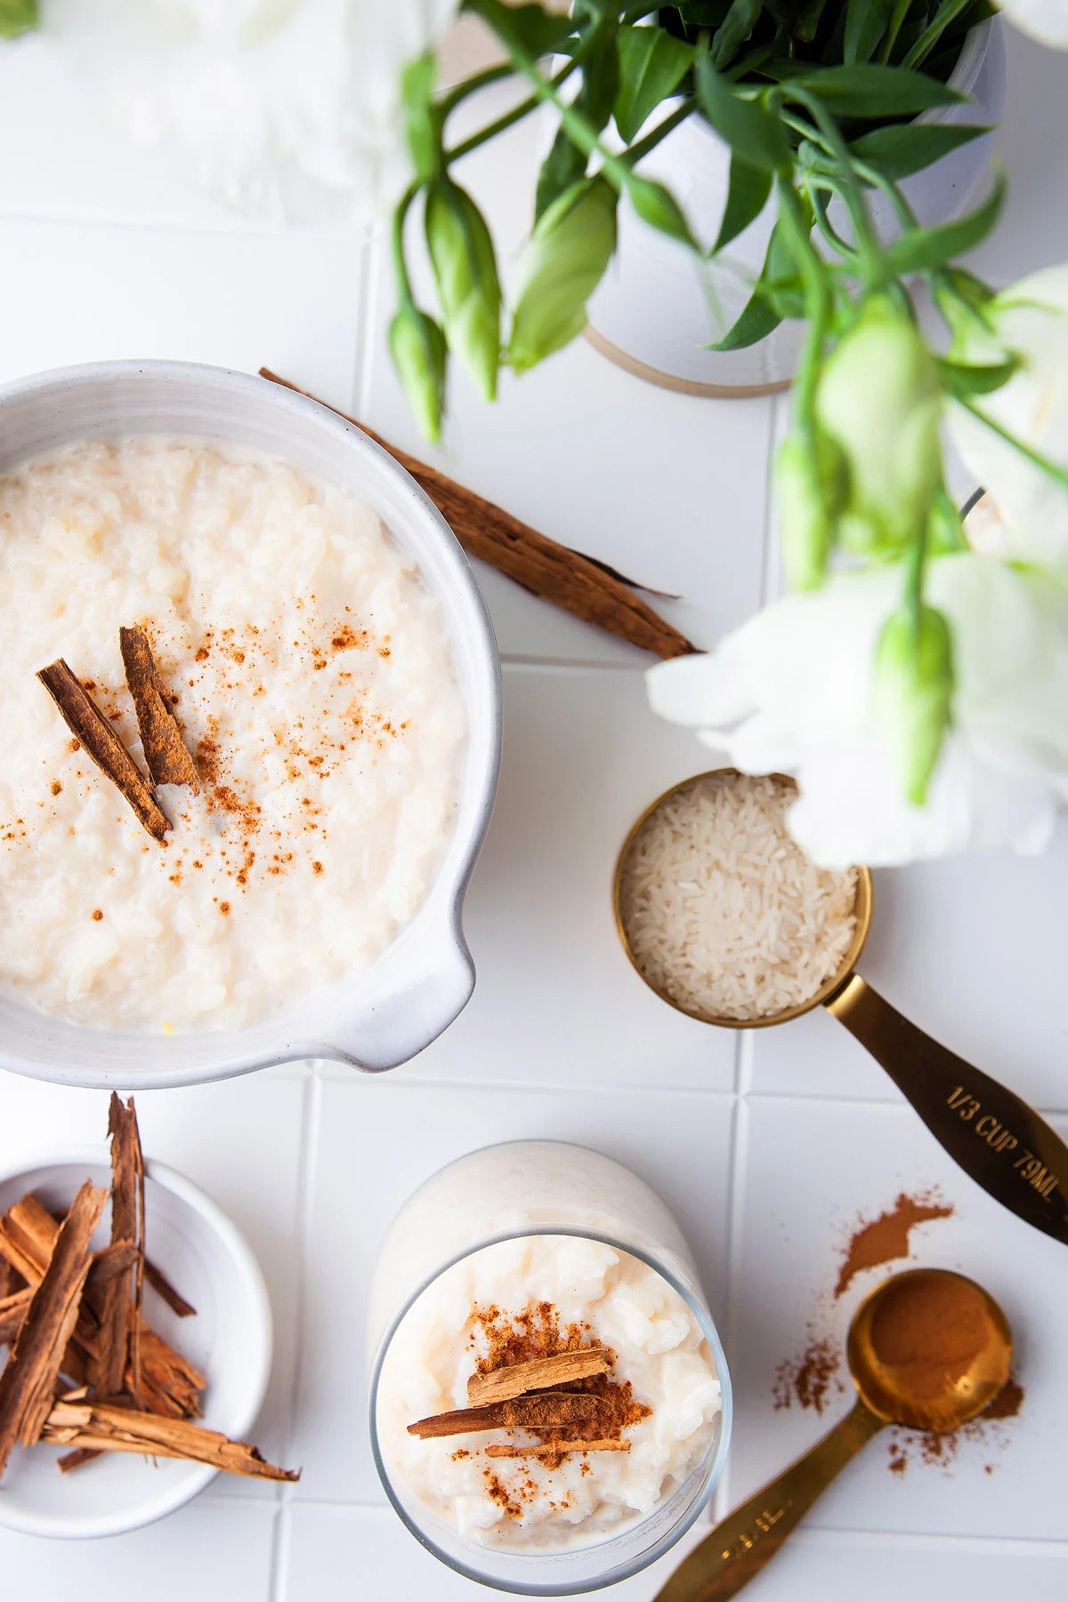
[[[961,103],[948,80],[990,8],[466,10],[506,64],[437,98],[424,56],[404,85],[415,175],[394,218],[391,344],[428,436],[440,428],[450,352],[492,399],[501,364],[524,372],[583,330],[620,205],[700,263],[773,207],[759,271],[717,344],[751,348],[791,320],[801,332],[775,474],[793,593],[709,655],[655,668],[653,706],[738,767],[794,774],[791,825],[828,865],[1039,849],[1068,796],[1068,268],[996,293],[956,264],[994,226],[1001,175],[956,218],[925,221],[905,189],[985,131],[922,114]],[[1063,5],[1036,10],[1046,32],[1066,30]],[[450,146],[455,107],[503,74],[524,80],[527,98]],[[453,165],[540,104],[557,133],[501,340],[492,234]],[[730,147],[711,250],[648,168],[693,117]],[[416,306],[408,277],[405,221],[418,203],[440,320]],[[917,284],[945,322],[945,354],[917,322]],[[946,489],[943,425],[990,490],[982,549]]]

